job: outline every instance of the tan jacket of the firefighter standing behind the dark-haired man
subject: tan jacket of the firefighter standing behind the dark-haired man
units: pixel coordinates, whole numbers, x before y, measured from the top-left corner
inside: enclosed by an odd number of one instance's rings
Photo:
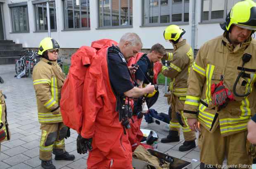
[[[187,93],[187,78],[194,61],[194,53],[186,39],[174,46],[173,59],[170,67],[163,66],[162,73],[171,81],[169,90],[176,96],[185,96]]]

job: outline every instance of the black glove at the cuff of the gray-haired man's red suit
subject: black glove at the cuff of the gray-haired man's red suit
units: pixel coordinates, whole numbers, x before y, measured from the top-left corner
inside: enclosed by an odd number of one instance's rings
[[[92,138],[85,139],[81,134],[78,134],[76,139],[76,149],[79,154],[85,154],[87,151],[92,151]]]

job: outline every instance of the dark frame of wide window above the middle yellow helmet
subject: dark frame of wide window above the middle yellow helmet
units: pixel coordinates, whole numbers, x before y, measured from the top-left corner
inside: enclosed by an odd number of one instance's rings
[[[189,0],[190,3],[191,0]],[[170,14],[169,14],[169,23],[161,23],[161,6],[165,6],[165,5],[161,5],[161,0],[158,0],[158,4],[159,4],[159,15],[158,15],[158,23],[143,23],[143,17],[144,17],[144,3],[145,0],[141,1],[141,26],[140,27],[154,27],[154,26],[168,26],[170,24],[175,24],[175,25],[189,25],[190,20],[189,21],[184,21],[184,15],[185,15],[185,11],[184,11],[184,7],[185,7],[185,0],[182,0],[182,9],[181,9],[181,21],[176,21],[176,22],[172,22],[172,0],[170,0]],[[190,14],[190,12],[188,12]]]

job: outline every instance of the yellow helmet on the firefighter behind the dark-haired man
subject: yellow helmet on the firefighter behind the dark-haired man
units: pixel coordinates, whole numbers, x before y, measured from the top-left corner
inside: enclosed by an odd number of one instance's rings
[[[164,30],[164,39],[177,41],[185,32],[178,25],[170,25]]]

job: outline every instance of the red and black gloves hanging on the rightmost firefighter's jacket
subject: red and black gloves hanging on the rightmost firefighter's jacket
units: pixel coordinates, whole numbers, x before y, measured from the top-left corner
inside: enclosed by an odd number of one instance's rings
[[[234,100],[233,93],[227,88],[225,88],[225,86],[223,85],[223,81],[220,81],[220,83],[218,84],[211,85],[211,96],[212,102],[216,106],[221,106],[229,100]]]

